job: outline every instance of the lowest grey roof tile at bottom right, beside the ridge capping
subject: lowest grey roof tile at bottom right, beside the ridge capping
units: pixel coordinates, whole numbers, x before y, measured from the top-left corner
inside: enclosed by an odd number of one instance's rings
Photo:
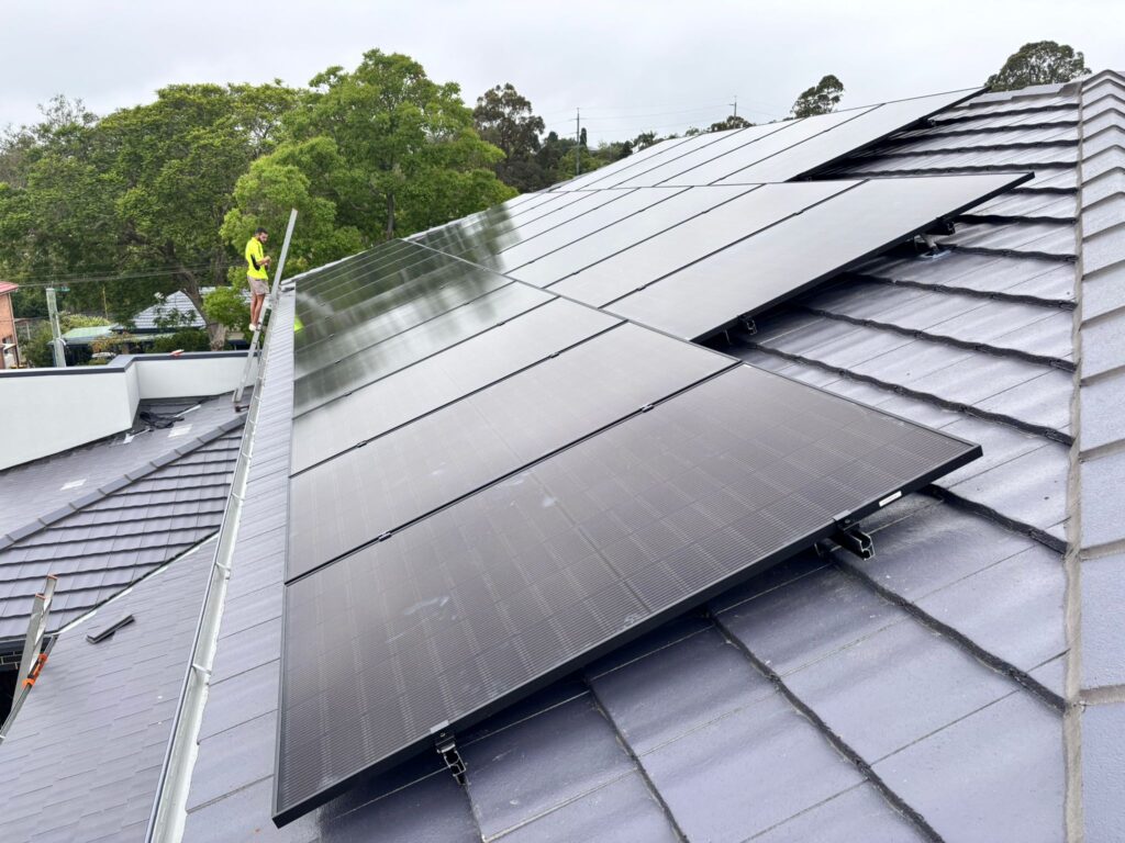
[[[874,765],[945,840],[1063,839],[1059,715],[1016,691]]]

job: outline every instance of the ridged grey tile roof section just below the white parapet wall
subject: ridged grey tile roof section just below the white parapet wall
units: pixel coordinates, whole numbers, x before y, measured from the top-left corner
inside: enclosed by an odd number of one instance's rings
[[[242,420],[220,396],[169,427],[138,423],[0,473],[21,490],[0,520],[0,640],[22,638],[48,573],[57,629],[215,533]]]

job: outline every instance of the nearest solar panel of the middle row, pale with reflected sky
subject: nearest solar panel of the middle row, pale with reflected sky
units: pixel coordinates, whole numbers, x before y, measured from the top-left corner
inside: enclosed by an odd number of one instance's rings
[[[606,303],[606,309],[680,337],[700,338],[1028,178],[1008,173],[863,182]]]

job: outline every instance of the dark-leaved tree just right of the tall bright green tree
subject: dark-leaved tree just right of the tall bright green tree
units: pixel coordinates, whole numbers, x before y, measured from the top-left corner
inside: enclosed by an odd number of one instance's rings
[[[472,120],[482,139],[504,153],[504,160],[495,166],[501,181],[521,192],[539,190],[550,183],[536,160],[543,120],[532,114],[531,101],[511,82],[478,97]]]

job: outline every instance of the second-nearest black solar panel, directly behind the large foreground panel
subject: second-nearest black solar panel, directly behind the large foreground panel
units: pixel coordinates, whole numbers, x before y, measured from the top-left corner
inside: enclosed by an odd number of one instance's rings
[[[398,427],[290,482],[287,577],[299,577],[731,360],[634,325]]]

